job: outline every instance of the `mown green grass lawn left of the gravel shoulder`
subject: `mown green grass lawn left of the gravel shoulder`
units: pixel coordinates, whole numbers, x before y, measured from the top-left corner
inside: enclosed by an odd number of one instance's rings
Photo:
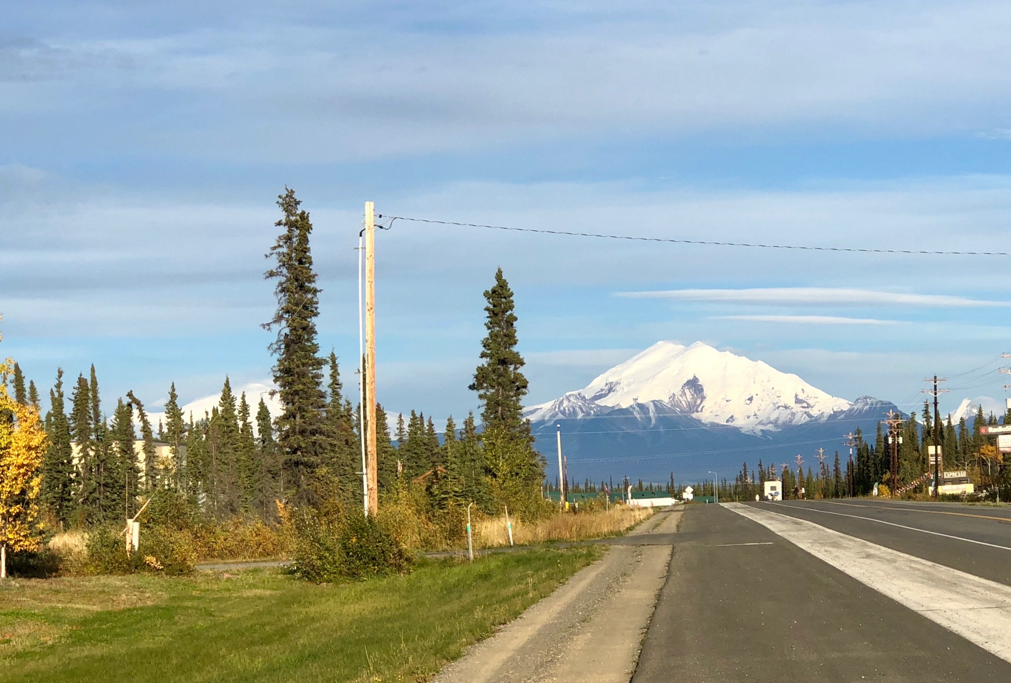
[[[418,681],[595,548],[426,562],[333,586],[276,570],[0,584],[0,681]]]

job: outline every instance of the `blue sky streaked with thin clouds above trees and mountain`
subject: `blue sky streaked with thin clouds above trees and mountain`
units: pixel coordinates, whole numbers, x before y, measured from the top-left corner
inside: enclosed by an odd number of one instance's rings
[[[107,398],[156,404],[172,381],[191,400],[225,374],[269,377],[263,254],[285,185],[313,217],[320,344],[349,385],[366,199],[520,227],[1011,251],[1006,3],[85,0],[4,15],[0,353],[39,386],[94,363]],[[497,266],[531,402],[660,338],[850,399],[915,403],[934,372],[952,377],[950,407],[1005,395],[986,371],[1011,351],[1008,258],[400,221],[377,258],[394,411],[475,407]]]

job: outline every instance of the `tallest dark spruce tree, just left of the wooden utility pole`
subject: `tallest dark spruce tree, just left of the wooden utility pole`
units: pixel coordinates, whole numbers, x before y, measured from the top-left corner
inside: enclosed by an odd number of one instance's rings
[[[275,226],[283,231],[267,255],[275,259],[275,266],[265,274],[267,279],[277,280],[277,312],[264,327],[278,330],[270,351],[277,357],[273,374],[283,405],[277,432],[288,475],[285,479],[296,502],[310,503],[316,497],[312,475],[327,446],[324,361],[318,357],[315,327],[319,288],[309,250],[312,223],[309,214],[299,209],[294,190],[285,188],[277,204],[284,217]]]

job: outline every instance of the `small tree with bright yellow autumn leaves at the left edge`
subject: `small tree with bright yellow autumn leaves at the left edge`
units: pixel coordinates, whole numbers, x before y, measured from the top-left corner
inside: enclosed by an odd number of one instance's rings
[[[0,363],[0,579],[7,577],[7,550],[38,547],[38,489],[45,431],[32,405],[7,394],[11,361]]]

